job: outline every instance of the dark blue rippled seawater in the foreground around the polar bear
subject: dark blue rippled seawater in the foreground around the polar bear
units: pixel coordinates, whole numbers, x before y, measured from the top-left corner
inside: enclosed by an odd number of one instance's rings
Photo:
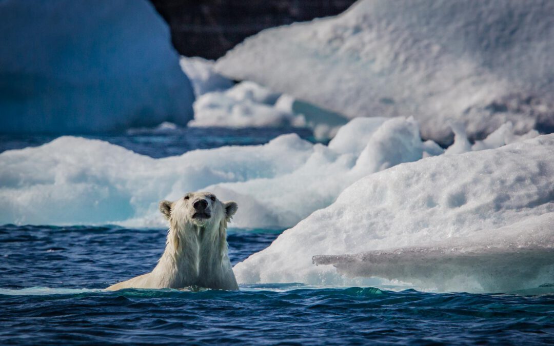
[[[279,230],[229,231],[237,263]],[[166,230],[0,227],[0,344],[552,344],[554,295],[248,285],[103,292],[150,271]]]

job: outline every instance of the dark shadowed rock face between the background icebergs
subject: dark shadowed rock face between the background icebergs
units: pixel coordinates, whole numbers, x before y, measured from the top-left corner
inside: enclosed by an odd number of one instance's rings
[[[355,0],[150,0],[184,56],[217,59],[263,29],[335,16]]]

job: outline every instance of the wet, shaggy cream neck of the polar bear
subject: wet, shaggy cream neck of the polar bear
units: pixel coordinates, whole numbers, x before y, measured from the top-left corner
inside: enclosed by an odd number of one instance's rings
[[[228,260],[227,221],[198,226],[171,222],[166,249],[152,271],[168,287],[204,286],[203,278],[217,277]]]

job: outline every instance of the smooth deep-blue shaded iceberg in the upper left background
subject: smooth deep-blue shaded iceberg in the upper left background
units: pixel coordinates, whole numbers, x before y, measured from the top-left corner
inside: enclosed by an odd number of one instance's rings
[[[194,95],[146,0],[0,2],[0,132],[186,125]]]

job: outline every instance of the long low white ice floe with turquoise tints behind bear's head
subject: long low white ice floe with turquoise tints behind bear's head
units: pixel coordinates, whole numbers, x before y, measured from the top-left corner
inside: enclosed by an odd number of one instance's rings
[[[60,137],[0,154],[0,224],[165,226],[157,211],[161,199],[212,190],[238,202],[234,226],[285,228],[367,174],[440,151],[420,141],[411,118],[353,120],[329,147],[284,135],[263,146],[162,159]]]

